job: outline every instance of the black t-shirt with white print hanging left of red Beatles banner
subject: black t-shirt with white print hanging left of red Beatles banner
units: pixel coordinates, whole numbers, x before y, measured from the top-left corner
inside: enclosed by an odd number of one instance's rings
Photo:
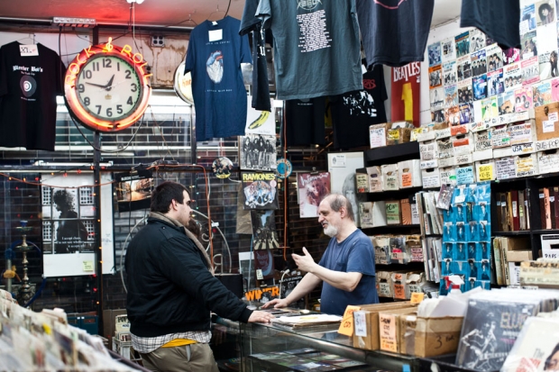
[[[330,97],[334,149],[369,146],[369,126],[386,122],[384,101],[387,98],[382,65],[363,74],[362,90]]]

